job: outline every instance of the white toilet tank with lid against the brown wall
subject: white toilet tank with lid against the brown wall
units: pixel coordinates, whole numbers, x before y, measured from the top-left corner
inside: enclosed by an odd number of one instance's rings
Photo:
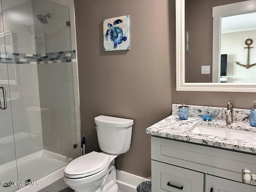
[[[100,149],[110,154],[122,154],[130,149],[132,119],[100,115],[94,118]]]

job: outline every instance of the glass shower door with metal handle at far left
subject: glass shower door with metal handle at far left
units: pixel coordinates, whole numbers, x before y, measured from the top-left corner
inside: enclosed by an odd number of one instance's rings
[[[0,10],[2,6],[0,4]],[[2,12],[2,11],[1,11]],[[0,191],[12,192],[18,189],[18,174],[14,146],[12,109],[10,104],[10,87],[7,71],[5,34],[2,13],[0,14]],[[5,104],[6,101],[6,104]],[[2,183],[4,182],[4,183]],[[11,183],[11,182],[16,182]]]

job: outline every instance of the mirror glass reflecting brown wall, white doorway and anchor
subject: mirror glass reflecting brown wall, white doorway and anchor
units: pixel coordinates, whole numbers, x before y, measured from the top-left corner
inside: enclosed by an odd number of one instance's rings
[[[185,0],[186,83],[256,82],[255,5],[237,2],[255,1]]]

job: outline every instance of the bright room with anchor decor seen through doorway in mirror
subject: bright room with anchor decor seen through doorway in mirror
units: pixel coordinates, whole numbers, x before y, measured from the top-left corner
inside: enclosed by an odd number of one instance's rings
[[[256,12],[221,18],[220,82],[256,82]]]

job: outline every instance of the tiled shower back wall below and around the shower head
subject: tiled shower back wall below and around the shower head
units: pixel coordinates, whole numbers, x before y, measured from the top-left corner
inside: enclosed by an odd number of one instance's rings
[[[63,2],[73,4],[72,0],[57,3]],[[69,15],[68,7],[47,0],[33,0],[32,7],[40,106],[51,111],[50,121],[41,114],[43,147],[76,158],[77,149],[73,144],[80,146],[80,122],[75,43],[71,43],[70,26],[66,25],[74,14],[70,10]],[[36,15],[48,12],[52,15],[46,17],[48,23],[40,23]],[[74,36],[74,32],[71,34]]]

